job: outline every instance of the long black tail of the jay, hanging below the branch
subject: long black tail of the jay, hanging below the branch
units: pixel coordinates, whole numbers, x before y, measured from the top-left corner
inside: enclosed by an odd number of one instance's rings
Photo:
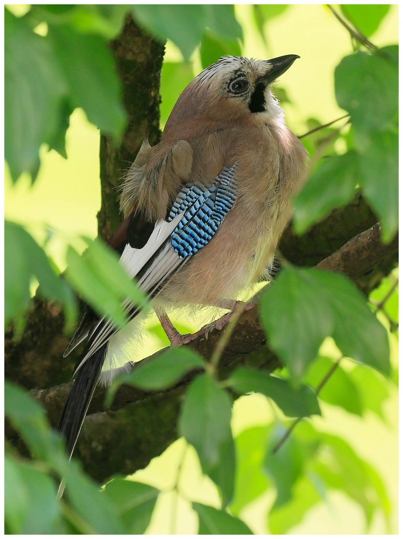
[[[68,455],[71,457],[81,426],[84,423],[89,403],[95,391],[105,362],[108,344],[105,343],[99,350],[81,365],[74,378],[70,395],[61,412],[57,430],[66,439]]]

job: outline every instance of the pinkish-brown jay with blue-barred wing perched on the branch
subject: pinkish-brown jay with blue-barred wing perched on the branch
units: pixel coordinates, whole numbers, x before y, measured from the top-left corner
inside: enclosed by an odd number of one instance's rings
[[[297,58],[228,56],[205,68],[180,94],[161,141],[151,147],[146,139],[124,177],[124,220],[108,243],[172,344],[199,333],[181,336],[170,307],[231,311],[273,262],[306,176],[307,152],[272,87]],[[123,307],[130,325],[140,325],[141,307]],[[88,307],[65,352],[85,343],[57,426],[70,457],[96,385],[112,379],[105,367],[120,370],[112,349],[124,349],[125,335]]]

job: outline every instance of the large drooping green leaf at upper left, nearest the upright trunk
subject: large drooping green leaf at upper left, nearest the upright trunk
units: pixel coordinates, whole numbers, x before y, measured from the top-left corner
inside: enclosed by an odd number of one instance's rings
[[[84,109],[103,133],[119,138],[126,123],[114,59],[105,39],[74,32],[65,25],[50,26],[60,67],[70,89],[72,107]],[[91,89],[91,91],[89,91]]]

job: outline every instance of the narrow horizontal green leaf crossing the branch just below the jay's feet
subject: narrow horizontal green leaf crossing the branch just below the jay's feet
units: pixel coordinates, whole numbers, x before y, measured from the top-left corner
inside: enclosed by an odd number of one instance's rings
[[[119,385],[130,384],[145,391],[167,389],[188,372],[204,367],[203,358],[190,348],[169,348],[150,361],[136,363],[133,370],[119,378]]]

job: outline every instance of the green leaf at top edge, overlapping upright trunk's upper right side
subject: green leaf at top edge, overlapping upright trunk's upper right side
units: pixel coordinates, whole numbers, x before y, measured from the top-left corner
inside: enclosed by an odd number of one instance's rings
[[[198,45],[205,26],[204,6],[198,4],[136,4],[134,18],[162,43],[170,39],[188,60]]]

